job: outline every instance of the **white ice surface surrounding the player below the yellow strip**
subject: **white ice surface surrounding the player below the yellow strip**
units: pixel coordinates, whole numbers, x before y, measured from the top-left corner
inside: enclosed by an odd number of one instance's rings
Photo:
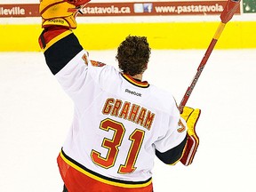
[[[178,103],[204,50],[152,51],[144,80]],[[116,66],[116,51],[90,52]],[[188,106],[202,109],[194,163],[156,159],[156,192],[255,192],[256,50],[214,50]],[[56,157],[73,115],[42,52],[0,52],[0,191],[60,192]]]

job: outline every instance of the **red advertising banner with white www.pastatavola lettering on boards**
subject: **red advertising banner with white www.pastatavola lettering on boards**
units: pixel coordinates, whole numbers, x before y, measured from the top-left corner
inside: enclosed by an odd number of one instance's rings
[[[255,12],[256,0],[244,0],[244,12]],[[80,17],[219,15],[227,0],[219,1],[92,1]],[[236,14],[240,14],[240,7]],[[0,4],[0,18],[39,17],[39,4]]]

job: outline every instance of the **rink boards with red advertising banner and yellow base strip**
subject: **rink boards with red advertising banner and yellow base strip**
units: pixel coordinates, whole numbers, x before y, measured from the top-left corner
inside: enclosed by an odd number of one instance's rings
[[[78,27],[74,30],[80,43],[87,50],[116,49],[116,46],[128,35],[148,36],[148,42],[153,49],[207,48],[220,24],[221,9],[218,9],[223,7],[227,1],[197,1],[198,4],[203,4],[200,5],[201,8],[203,6],[203,8],[209,8],[207,14],[191,11],[192,8],[199,7],[195,1],[194,5],[184,2],[180,5],[179,1],[172,1],[173,7],[176,6],[176,12],[172,13],[148,12],[146,10],[148,4],[153,4],[156,7],[157,4],[161,3],[161,6],[164,4],[170,8],[171,6],[169,3],[167,4],[167,1],[155,0],[151,3],[132,1],[131,3],[131,1],[125,2],[124,0],[105,0],[103,5],[100,0],[92,0],[92,2],[91,12],[89,9],[84,10],[87,15],[77,18]],[[205,5],[204,2],[207,2],[205,4],[212,2],[212,5]],[[254,0],[249,3],[246,2],[247,0],[244,2],[242,0],[236,15],[228,22],[221,34],[216,49],[256,48],[256,5],[254,7],[252,4]],[[187,3],[191,2],[188,1]],[[132,4],[131,7],[129,4]],[[138,4],[142,5],[141,10]],[[145,10],[143,10],[143,5]],[[105,6],[104,9],[102,8],[104,12],[102,10],[100,13],[95,12],[95,7],[99,9],[100,6]],[[123,10],[124,12],[115,15],[115,9],[121,10],[122,7],[127,9],[130,7],[134,10],[132,12]],[[3,3],[1,1],[0,52],[40,51],[37,39],[42,28],[41,18],[38,15],[37,0],[22,1],[22,3],[17,0],[3,0]]]

